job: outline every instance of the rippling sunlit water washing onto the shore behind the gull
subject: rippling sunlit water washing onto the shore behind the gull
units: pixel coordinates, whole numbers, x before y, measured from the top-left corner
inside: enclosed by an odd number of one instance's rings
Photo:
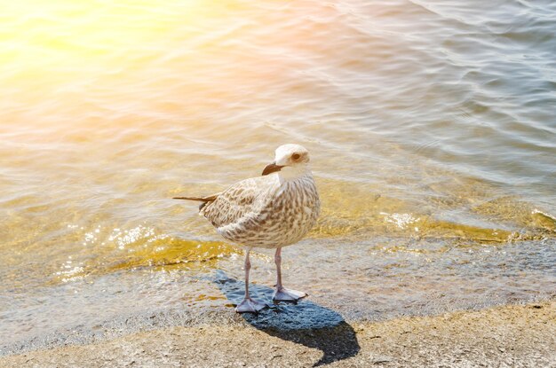
[[[232,301],[196,206],[312,153],[322,216],[284,278],[348,319],[556,282],[551,1],[3,4],[3,346]],[[253,281],[273,285],[272,254]],[[335,313],[336,313],[335,312]]]

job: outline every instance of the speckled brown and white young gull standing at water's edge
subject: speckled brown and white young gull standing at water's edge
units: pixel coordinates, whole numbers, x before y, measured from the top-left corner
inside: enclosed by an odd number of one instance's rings
[[[321,208],[305,147],[281,145],[262,176],[242,180],[223,192],[174,199],[203,202],[199,215],[209,220],[222,237],[245,248],[245,297],[236,312],[258,313],[268,307],[249,294],[249,254],[253,247],[276,249],[273,301],[295,302],[307,296],[282,286],[281,269],[282,247],[301,240],[313,228]]]

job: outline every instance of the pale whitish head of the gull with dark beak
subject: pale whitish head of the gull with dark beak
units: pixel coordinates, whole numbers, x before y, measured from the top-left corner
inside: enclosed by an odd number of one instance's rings
[[[281,145],[276,148],[274,162],[266,165],[263,176],[280,171],[282,176],[300,176],[309,170],[309,151],[303,145]]]

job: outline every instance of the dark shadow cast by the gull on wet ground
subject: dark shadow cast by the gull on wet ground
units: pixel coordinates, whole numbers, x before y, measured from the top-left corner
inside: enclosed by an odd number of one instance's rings
[[[245,283],[229,278],[218,270],[214,278],[226,298],[237,304],[243,299]],[[353,327],[334,310],[313,301],[301,300],[297,304],[272,304],[274,289],[250,284],[251,297],[270,305],[258,314],[244,313],[242,317],[258,330],[282,340],[293,341],[307,348],[318,348],[322,358],[314,364],[320,366],[356,356],[361,349]]]

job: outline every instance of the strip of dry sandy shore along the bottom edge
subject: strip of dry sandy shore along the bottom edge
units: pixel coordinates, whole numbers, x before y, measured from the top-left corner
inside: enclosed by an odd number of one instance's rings
[[[2,367],[556,367],[556,301],[319,330],[171,327],[0,358]]]

